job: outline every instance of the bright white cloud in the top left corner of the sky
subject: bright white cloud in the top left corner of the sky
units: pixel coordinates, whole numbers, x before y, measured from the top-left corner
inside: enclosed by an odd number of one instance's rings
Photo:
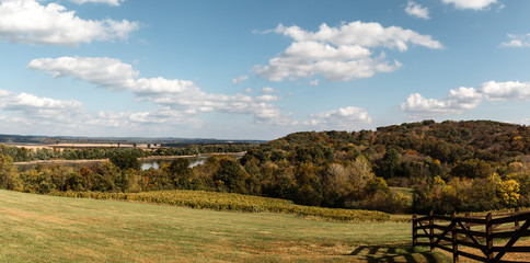
[[[82,20],[74,11],[37,0],[7,0],[0,3],[0,41],[12,43],[79,46],[93,41],[127,39],[138,30],[127,20]]]

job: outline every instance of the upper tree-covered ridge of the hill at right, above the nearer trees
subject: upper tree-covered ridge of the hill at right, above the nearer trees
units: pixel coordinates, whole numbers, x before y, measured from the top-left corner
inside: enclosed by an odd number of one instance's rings
[[[324,163],[359,153],[377,160],[389,149],[446,163],[472,158],[504,161],[530,152],[530,127],[492,121],[424,121],[380,127],[376,132],[302,132],[262,144],[250,156],[260,161],[286,158]]]

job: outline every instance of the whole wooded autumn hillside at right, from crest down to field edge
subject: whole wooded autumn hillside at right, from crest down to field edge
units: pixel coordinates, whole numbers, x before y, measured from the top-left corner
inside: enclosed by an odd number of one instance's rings
[[[424,121],[376,132],[291,134],[250,150],[242,163],[268,178],[266,195],[391,210],[400,199],[390,184],[414,187],[416,211],[449,213],[529,206],[529,152],[526,126]],[[286,194],[288,185],[297,193]]]

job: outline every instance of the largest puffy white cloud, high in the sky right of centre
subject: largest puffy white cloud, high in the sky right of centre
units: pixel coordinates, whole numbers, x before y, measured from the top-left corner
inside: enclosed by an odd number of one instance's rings
[[[347,81],[370,78],[377,72],[400,68],[399,61],[387,61],[385,54],[373,55],[370,48],[405,52],[410,45],[442,48],[429,35],[420,35],[399,26],[383,27],[379,23],[360,21],[330,27],[322,24],[316,32],[299,26],[279,24],[267,31],[289,36],[293,43],[269,59],[268,65],[256,65],[253,71],[270,81],[296,80],[322,75],[329,80]]]

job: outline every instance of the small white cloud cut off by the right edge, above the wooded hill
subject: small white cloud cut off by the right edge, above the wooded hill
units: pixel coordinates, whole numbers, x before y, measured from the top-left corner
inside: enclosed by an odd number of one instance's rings
[[[530,82],[487,81],[480,91],[489,101],[530,101]]]

